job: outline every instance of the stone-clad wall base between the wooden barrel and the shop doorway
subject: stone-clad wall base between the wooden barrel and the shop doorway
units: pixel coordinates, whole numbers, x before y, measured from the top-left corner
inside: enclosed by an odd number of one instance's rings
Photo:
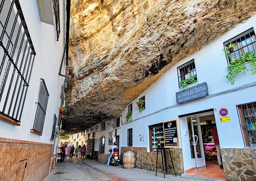
[[[155,152],[147,152],[146,147],[121,147],[121,163],[123,158],[124,151],[134,151],[135,154],[135,168],[140,168],[148,171],[156,171],[156,153]],[[171,155],[173,157],[175,172],[177,175],[181,175],[184,173],[183,168],[183,158],[182,158],[182,150],[181,148],[171,149]],[[166,152],[167,157],[167,166],[170,166],[171,160],[169,151]],[[161,154],[158,155],[158,163],[160,167],[162,166],[162,158]],[[157,172],[163,172],[162,169],[157,169]],[[168,174],[174,175],[173,169],[168,169]]]

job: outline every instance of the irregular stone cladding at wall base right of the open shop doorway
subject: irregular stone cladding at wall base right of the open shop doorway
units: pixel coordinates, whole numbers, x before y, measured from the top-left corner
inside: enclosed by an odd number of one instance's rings
[[[221,148],[227,181],[256,181],[251,149]]]

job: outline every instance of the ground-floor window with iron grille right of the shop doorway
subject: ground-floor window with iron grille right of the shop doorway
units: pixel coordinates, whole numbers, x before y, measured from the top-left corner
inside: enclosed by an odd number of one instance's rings
[[[256,142],[256,102],[250,102],[237,106],[244,135],[245,144]]]

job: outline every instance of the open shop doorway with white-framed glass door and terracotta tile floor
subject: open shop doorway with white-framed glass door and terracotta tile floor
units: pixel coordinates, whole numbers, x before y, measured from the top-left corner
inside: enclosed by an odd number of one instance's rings
[[[216,127],[214,112],[187,116],[189,146],[193,169],[187,174],[201,174],[218,179],[225,179],[224,171],[220,168],[217,151],[211,136]]]

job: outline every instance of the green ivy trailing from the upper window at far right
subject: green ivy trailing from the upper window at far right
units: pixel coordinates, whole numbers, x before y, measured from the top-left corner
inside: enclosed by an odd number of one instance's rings
[[[251,68],[247,68],[245,64],[250,63]],[[231,60],[227,67],[228,75],[226,78],[231,81],[231,84],[235,84],[236,76],[241,72],[252,71],[252,75],[256,74],[256,54],[254,51],[244,53],[241,58]]]

